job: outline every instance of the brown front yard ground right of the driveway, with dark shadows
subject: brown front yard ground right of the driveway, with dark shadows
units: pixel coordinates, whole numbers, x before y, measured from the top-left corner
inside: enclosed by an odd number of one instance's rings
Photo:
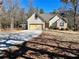
[[[11,48],[7,54],[15,59],[79,59],[78,39],[78,32],[43,31],[38,37]]]

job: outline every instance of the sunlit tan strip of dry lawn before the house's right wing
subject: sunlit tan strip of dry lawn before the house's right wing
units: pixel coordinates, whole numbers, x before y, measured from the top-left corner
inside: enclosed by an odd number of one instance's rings
[[[62,41],[72,41],[79,43],[79,32],[73,31],[46,31],[45,33],[55,36],[56,39]]]

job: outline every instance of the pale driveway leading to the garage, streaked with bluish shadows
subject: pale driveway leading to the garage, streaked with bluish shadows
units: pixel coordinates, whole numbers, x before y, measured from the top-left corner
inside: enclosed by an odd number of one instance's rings
[[[28,41],[33,37],[37,37],[42,31],[29,31],[24,30],[18,33],[0,33],[0,50],[7,49],[10,44],[21,44],[24,41]]]

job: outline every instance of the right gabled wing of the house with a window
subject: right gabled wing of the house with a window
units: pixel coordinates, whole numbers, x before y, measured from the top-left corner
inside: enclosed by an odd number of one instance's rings
[[[51,18],[49,21],[49,27],[50,28],[57,28],[57,29],[67,29],[67,19],[63,18],[59,15],[56,15],[55,17]]]

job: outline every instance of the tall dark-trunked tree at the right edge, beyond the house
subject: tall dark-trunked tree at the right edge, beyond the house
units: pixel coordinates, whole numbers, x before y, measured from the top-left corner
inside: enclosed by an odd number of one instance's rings
[[[76,24],[76,15],[77,15],[77,9],[78,9],[78,4],[79,4],[79,0],[61,0],[64,3],[71,3],[72,8],[73,8],[73,19],[74,19],[74,26],[73,26],[73,30],[76,31],[77,30],[77,24]]]

